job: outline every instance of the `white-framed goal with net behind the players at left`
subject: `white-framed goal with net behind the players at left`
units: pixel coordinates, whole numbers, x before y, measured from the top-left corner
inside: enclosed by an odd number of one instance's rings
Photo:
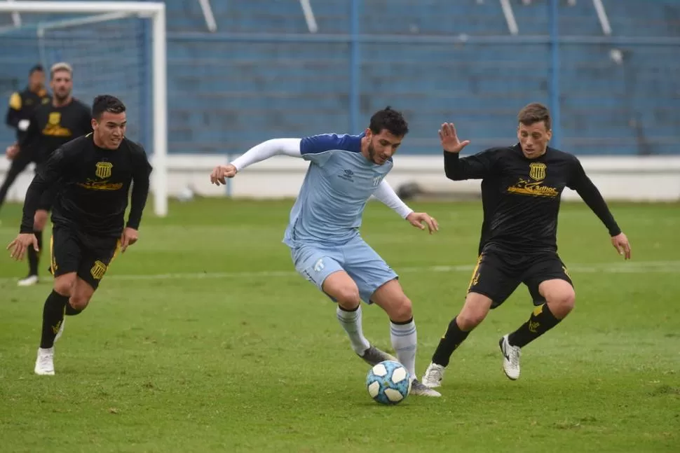
[[[57,62],[74,70],[73,95],[90,105],[114,95],[127,107],[126,136],[147,149],[154,165],[154,212],[165,216],[167,102],[165,7],[127,1],[0,0],[0,95],[25,87],[29,68]],[[7,137],[5,137],[7,135]],[[0,134],[7,143],[11,130]]]

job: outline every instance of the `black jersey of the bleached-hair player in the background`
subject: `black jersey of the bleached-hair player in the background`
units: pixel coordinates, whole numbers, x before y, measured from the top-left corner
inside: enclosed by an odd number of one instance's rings
[[[52,102],[41,104],[30,122],[19,148],[21,152],[29,148],[36,162],[44,162],[63,144],[92,132],[90,109],[77,99],[58,107]]]

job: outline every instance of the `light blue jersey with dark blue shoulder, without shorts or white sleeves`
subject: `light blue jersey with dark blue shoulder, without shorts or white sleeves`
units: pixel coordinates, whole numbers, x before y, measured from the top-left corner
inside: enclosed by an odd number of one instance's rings
[[[283,242],[346,244],[358,235],[366,203],[390,172],[361,153],[360,135],[323,134],[300,142],[302,158],[311,163],[291,212]]]

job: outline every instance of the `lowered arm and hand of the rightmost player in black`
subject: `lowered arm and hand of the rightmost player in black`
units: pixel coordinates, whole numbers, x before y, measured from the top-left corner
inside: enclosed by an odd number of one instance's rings
[[[576,193],[583,199],[585,204],[587,204],[602,223],[604,223],[611,236],[611,244],[618,253],[623,255],[625,259],[630,259],[630,244],[628,238],[621,232],[606,201],[604,201],[604,197],[602,197],[602,194],[597,190],[597,187],[587,174],[585,174],[583,165],[581,165],[579,160],[574,158],[573,162],[571,178],[567,186],[576,190]]]

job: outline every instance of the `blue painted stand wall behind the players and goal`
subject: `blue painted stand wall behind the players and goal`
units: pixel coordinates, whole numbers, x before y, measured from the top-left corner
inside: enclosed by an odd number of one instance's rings
[[[497,1],[355,1],[360,36],[351,34],[346,0],[311,2],[317,35],[309,34],[297,0],[213,0],[217,34],[206,32],[197,1],[166,1],[169,151],[240,153],[272,137],[359,132],[388,104],[411,124],[400,153],[439,153],[443,121],[454,121],[477,146],[494,146],[515,139],[524,104],[550,102],[548,0],[512,1],[518,36],[508,34]],[[556,1],[562,148],[578,155],[680,153],[680,1],[604,0],[609,39],[592,2]],[[48,63],[74,63],[76,95],[84,100],[100,91],[121,95],[138,125],[130,135],[148,143],[143,22],[49,32],[43,54]],[[0,17],[0,27],[9,23]],[[39,40],[25,27],[0,41],[6,99],[39,59]],[[2,130],[0,140],[11,133]]]

